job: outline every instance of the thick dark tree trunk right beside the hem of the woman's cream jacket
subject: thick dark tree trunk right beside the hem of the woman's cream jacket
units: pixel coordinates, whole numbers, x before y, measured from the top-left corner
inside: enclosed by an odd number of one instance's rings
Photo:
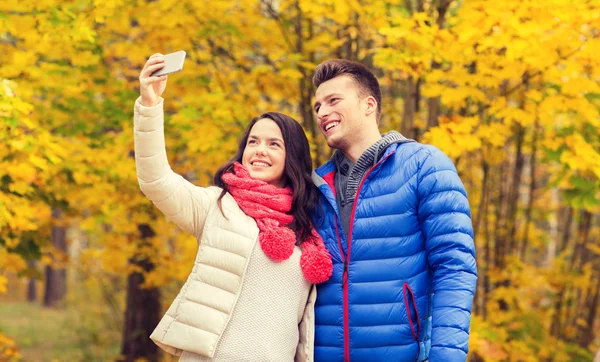
[[[142,244],[154,236],[154,231],[147,225],[139,225]],[[141,267],[145,272],[154,269],[154,265],[145,258],[132,258],[130,263]],[[158,362],[158,346],[149,338],[160,319],[160,292],[157,288],[142,289],[144,282],[142,273],[134,272],[127,278],[127,307],[121,354],[126,362],[139,358]]]

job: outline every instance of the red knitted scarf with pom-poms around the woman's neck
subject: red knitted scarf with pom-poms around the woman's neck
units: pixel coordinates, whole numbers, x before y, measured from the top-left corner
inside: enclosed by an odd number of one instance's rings
[[[294,216],[288,214],[292,209],[292,189],[256,180],[237,162],[233,172],[226,172],[221,178],[242,211],[256,220],[263,252],[274,261],[287,260],[296,245],[296,234],[288,227],[294,221]],[[300,248],[304,278],[314,284],[329,279],[333,271],[331,256],[314,229]]]

